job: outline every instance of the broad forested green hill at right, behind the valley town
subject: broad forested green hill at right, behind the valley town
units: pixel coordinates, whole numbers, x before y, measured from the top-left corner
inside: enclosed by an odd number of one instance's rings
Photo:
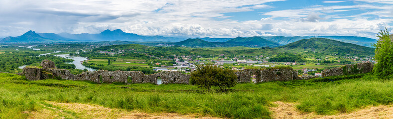
[[[279,49],[292,51],[311,51],[324,54],[359,54],[359,55],[374,55],[374,48],[359,46],[351,43],[344,43],[336,40],[325,38],[310,38],[303,39],[290,43],[285,46],[278,47]]]

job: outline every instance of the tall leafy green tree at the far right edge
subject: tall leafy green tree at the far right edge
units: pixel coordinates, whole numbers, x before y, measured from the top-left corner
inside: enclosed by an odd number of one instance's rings
[[[374,65],[374,73],[380,78],[391,78],[393,75],[393,42],[388,29],[381,30],[378,34],[375,47],[375,59],[378,61]]]

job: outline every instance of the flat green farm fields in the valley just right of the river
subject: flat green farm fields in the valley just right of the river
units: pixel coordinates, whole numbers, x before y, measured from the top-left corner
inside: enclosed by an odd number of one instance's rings
[[[108,60],[107,59],[92,59],[88,60],[90,63],[96,63],[96,64],[104,64],[108,65]],[[130,63],[127,63],[130,62]],[[116,60],[115,62],[111,62],[111,65],[118,65],[118,66],[141,66],[141,67],[149,67],[147,63],[133,63],[133,62],[144,62],[144,60],[132,60],[132,59],[122,59],[122,60]]]

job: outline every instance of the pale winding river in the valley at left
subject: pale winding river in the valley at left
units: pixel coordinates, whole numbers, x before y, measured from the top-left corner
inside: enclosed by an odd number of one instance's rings
[[[33,47],[33,46],[29,46],[29,47],[27,47],[27,48],[30,48],[31,49],[31,47]],[[33,49],[34,50],[34,49]],[[39,49],[38,49],[39,50]],[[53,53],[46,53],[46,54],[41,54],[41,55],[39,55],[39,56],[43,56],[43,55],[49,55],[49,54],[54,54],[54,53],[59,53],[59,52],[61,52],[61,51],[55,51],[55,52],[53,52]],[[93,68],[89,68],[89,67],[86,67],[86,66],[84,66],[84,65],[82,65],[82,62],[84,61],[84,60],[88,60],[87,58],[85,58],[85,57],[74,57],[74,56],[69,56],[68,54],[64,54],[64,55],[54,55],[54,56],[58,56],[58,57],[61,57],[61,58],[65,58],[65,59],[72,59],[72,60],[74,60],[74,61],[72,61],[72,62],[66,62],[66,63],[70,63],[70,64],[74,64],[76,67],[76,69],[81,69],[81,70],[83,70],[83,69],[87,69],[87,70],[89,70],[89,71],[95,71],[96,69],[93,69]],[[24,68],[24,67],[26,67],[27,65],[22,65],[22,66],[19,66],[18,68]]]

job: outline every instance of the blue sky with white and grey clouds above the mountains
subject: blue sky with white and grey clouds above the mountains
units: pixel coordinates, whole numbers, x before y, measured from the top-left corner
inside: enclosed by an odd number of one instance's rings
[[[393,33],[393,0],[0,0],[0,37],[121,29],[172,37]]]

